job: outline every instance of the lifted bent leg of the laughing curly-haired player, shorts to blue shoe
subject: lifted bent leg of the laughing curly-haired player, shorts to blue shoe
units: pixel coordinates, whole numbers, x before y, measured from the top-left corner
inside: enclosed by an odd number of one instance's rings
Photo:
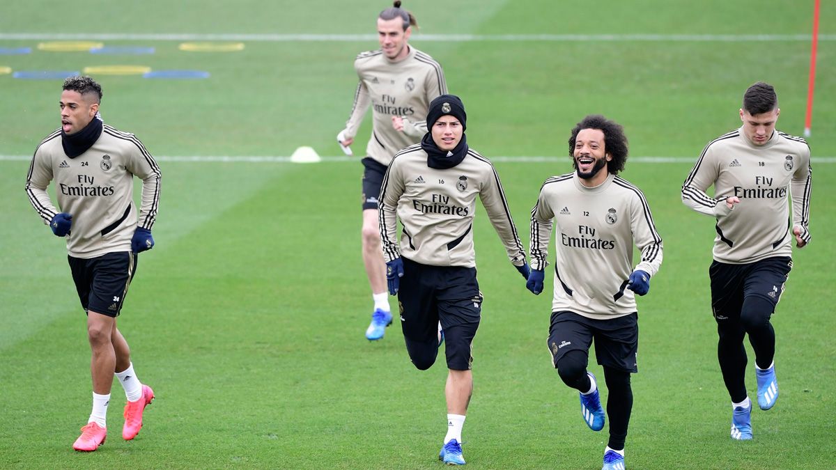
[[[592,329],[589,319],[573,312],[553,312],[548,330],[548,351],[563,383],[579,392],[580,412],[593,431],[604,428],[606,416],[595,375],[587,370]]]

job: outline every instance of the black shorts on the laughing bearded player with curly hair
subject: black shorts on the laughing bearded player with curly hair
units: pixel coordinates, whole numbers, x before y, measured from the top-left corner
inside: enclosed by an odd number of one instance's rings
[[[552,313],[548,329],[548,351],[552,364],[570,350],[581,350],[589,355],[595,340],[595,357],[599,365],[638,372],[636,351],[639,350],[639,314],[632,313],[614,319],[589,319],[568,311]]]

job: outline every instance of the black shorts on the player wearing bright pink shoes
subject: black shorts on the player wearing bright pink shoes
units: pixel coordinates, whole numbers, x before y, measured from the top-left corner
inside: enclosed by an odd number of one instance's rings
[[[117,316],[136,273],[136,254],[115,252],[89,259],[68,256],[67,260],[84,311]]]

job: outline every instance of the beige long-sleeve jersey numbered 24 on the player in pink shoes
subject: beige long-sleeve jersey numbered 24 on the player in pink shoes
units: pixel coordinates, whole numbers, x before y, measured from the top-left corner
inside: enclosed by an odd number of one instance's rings
[[[142,204],[133,202],[134,176],[142,180]],[[35,150],[26,177],[29,202],[44,223],[69,212],[73,224],[67,251],[74,258],[130,251],[137,226],[150,230],[160,202],[160,167],[135,135],[104,125],[99,140],[70,158],[61,145],[61,130],[48,135]],[[60,210],[47,193],[55,181]]]

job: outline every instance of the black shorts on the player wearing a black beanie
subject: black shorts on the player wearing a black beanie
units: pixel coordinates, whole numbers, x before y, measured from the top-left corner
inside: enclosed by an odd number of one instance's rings
[[[404,338],[418,343],[436,340],[441,322],[447,368],[470,370],[472,342],[482,318],[483,298],[476,268],[403,260],[398,307]]]

